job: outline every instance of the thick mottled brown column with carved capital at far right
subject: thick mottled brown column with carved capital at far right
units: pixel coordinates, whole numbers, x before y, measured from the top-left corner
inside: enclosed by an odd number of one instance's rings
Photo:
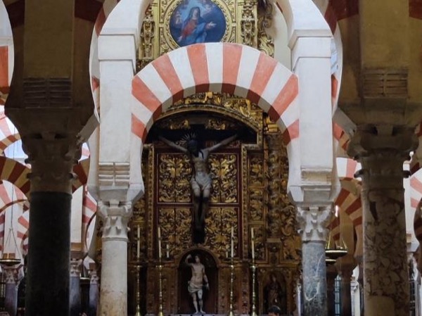
[[[362,163],[366,315],[409,315],[403,163],[416,147],[413,129],[361,128],[348,153]]]

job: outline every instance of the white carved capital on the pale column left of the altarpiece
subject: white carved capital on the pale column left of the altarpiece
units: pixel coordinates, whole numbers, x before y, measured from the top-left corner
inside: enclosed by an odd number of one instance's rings
[[[127,223],[132,217],[132,202],[98,201],[98,215],[103,219],[103,240],[127,241]]]

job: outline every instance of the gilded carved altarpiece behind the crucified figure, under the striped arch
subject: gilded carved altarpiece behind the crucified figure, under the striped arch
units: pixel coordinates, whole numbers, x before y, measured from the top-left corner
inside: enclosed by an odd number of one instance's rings
[[[207,115],[198,115],[200,110]],[[295,310],[295,289],[300,274],[300,238],[295,230],[295,209],[286,189],[288,160],[281,134],[260,108],[245,99],[225,94],[198,94],[174,105],[158,120],[157,128],[191,132],[198,121],[213,133],[248,127],[253,141],[239,137],[212,153],[212,196],[205,220],[205,243],[191,238],[192,174],[188,156],[162,141],[151,139],[143,151],[146,194],[134,206],[129,263],[136,262],[136,232],[141,231],[139,263],[143,313],[158,314],[158,227],[161,229],[162,303],[165,315],[191,314],[187,291],[190,269],[184,259],[200,253],[210,280],[204,310],[227,314],[229,310],[231,227],[234,227],[234,309],[249,314],[251,308],[251,241],[255,229],[257,263],[257,312],[266,313],[272,297],[271,282],[279,286],[279,303],[286,312]],[[253,134],[252,133],[252,134]],[[214,144],[207,141],[206,146]],[[187,269],[187,270],[186,270]],[[129,276],[129,285],[134,275]],[[132,281],[130,281],[132,280]],[[133,295],[133,292],[130,292]],[[130,298],[129,311],[134,310]]]

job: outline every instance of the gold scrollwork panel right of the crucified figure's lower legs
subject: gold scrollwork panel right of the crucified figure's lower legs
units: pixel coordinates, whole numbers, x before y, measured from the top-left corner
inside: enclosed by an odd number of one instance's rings
[[[237,245],[238,236],[238,208],[210,208],[205,220],[206,247],[215,249],[221,258],[226,258],[230,245],[231,227],[234,227],[234,244]],[[235,246],[235,252],[237,251]]]

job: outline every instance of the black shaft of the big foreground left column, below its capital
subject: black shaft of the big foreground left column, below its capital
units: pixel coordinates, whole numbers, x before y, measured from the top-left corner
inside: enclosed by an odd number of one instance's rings
[[[25,316],[69,315],[70,203],[61,192],[32,192]]]

